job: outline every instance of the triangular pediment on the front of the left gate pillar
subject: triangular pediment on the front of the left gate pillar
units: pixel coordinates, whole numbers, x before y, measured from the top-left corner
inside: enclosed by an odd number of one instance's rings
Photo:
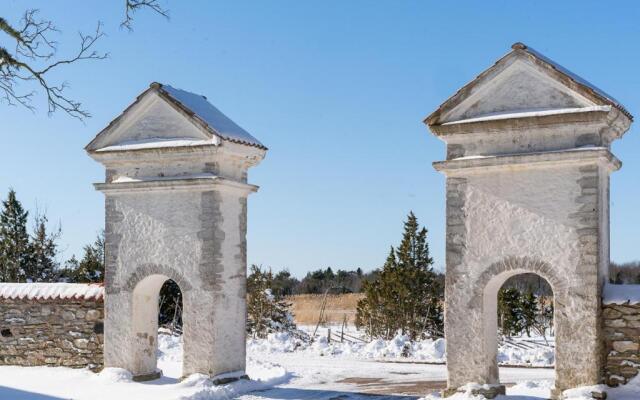
[[[100,151],[118,146],[135,146],[154,142],[189,143],[210,141],[213,135],[194,124],[188,115],[181,112],[157,91],[149,89],[127,108],[107,128],[89,143],[87,150]]]

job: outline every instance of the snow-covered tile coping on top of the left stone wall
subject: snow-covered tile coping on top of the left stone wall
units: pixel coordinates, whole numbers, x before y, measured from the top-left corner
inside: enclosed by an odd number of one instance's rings
[[[0,299],[102,301],[104,286],[101,283],[0,283]]]

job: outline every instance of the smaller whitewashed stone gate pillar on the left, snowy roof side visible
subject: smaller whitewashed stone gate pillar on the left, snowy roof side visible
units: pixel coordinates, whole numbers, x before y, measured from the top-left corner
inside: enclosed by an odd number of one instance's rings
[[[106,168],[106,367],[156,370],[158,293],[183,296],[183,375],[245,369],[247,171],[257,139],[205,97],[151,84],[86,147]]]

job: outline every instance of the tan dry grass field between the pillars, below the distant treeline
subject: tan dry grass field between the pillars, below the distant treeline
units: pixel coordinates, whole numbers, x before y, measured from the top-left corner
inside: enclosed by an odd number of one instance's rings
[[[291,310],[298,325],[315,325],[318,323],[322,306],[322,294],[299,294],[287,297],[292,303]],[[345,316],[347,323],[353,325],[356,318],[358,301],[362,293],[336,294],[327,296],[323,324],[341,324]]]

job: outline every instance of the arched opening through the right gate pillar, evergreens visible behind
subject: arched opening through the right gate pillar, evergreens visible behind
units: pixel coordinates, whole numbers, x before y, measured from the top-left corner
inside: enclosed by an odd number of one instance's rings
[[[489,281],[483,302],[492,383],[500,382],[500,364],[555,367],[554,293],[545,278],[526,270],[503,272]]]

